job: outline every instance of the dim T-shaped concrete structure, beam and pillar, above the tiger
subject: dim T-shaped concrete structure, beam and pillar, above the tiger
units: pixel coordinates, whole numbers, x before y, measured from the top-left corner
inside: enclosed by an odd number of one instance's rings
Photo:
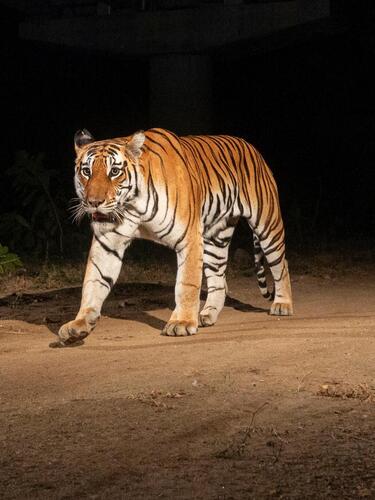
[[[86,1],[80,3],[88,8]],[[259,40],[274,40],[280,34],[283,43],[296,33],[304,36],[328,19],[329,4],[329,0],[187,0],[183,9],[167,10],[160,7],[163,2],[156,2],[155,9],[147,10],[144,1],[138,4],[144,10],[125,8],[124,2],[114,11],[110,2],[97,2],[96,15],[32,19],[21,24],[20,35],[150,58],[150,122],[179,133],[204,133],[211,129],[210,56],[239,47],[251,50]]]

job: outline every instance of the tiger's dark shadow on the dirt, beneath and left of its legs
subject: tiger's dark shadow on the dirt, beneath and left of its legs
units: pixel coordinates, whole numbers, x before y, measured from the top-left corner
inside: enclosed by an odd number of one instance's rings
[[[201,300],[207,292],[202,290]],[[46,325],[55,335],[63,323],[73,319],[81,300],[81,287],[62,288],[40,293],[14,293],[0,299],[0,317]],[[267,309],[254,307],[232,296],[227,296],[226,307],[241,312],[265,313]],[[174,308],[174,286],[161,283],[118,283],[106,300],[102,314],[111,318],[138,321],[161,331],[165,321],[152,311]],[[151,312],[150,312],[151,311]]]

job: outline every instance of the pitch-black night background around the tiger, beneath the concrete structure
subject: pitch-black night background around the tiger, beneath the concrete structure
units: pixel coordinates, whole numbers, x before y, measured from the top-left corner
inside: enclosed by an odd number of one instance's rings
[[[278,182],[288,245],[301,253],[374,248],[374,9],[351,2],[341,12],[333,4],[339,26],[333,32],[212,55],[213,132],[242,136],[263,153]],[[44,152],[44,168],[57,172],[48,189],[64,228],[64,258],[82,258],[88,224],[77,228],[68,213],[73,135],[86,127],[102,139],[158,126],[149,122],[148,60],[24,41],[22,19],[2,7],[0,243],[46,257],[43,245],[26,245],[20,231],[14,234],[17,223],[6,224],[9,214],[27,219],[33,210],[23,206],[19,177],[8,170],[16,152]],[[43,211],[35,227],[38,217]],[[49,258],[60,253],[58,235],[50,233]],[[234,247],[246,242],[240,226]]]

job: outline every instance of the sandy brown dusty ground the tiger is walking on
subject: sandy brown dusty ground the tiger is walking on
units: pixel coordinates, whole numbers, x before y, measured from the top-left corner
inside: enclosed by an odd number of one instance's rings
[[[188,338],[159,335],[173,277],[119,284],[66,349],[49,343],[78,287],[8,294],[1,498],[375,498],[374,278],[294,273],[296,314],[275,318],[232,276]]]

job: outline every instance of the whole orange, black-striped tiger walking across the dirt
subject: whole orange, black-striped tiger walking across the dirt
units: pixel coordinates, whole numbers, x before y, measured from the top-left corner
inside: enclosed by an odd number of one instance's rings
[[[254,146],[230,135],[178,136],[162,128],[99,141],[83,129],[74,145],[75,215],[89,216],[93,239],[81,305],[58,331],[58,346],[82,343],[95,328],[125,250],[137,238],[177,255],[175,308],[161,333],[187,336],[214,325],[225,302],[229,244],[240,217],[253,232],[256,276],[262,295],[273,301],[270,314],[293,314],[278,190]],[[203,274],[207,298],[199,311]]]

